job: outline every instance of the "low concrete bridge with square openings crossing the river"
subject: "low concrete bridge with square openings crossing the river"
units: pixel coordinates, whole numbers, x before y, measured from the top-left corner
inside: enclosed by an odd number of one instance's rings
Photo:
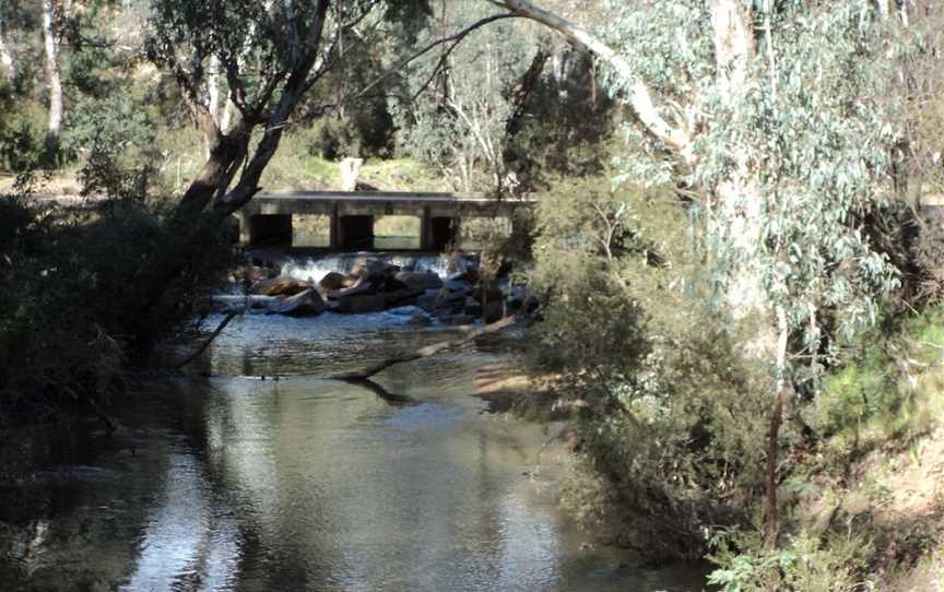
[[[507,217],[533,202],[497,200],[476,193],[416,193],[400,191],[296,191],[259,193],[235,215],[243,245],[292,242],[292,215],[330,218],[332,250],[374,248],[374,217],[420,218],[420,249],[445,249],[458,236],[462,218]]]

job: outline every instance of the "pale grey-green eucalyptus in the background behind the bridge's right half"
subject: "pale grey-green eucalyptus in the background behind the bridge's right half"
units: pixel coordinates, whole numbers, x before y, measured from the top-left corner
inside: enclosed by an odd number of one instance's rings
[[[434,8],[417,45],[489,14],[489,7],[447,1]],[[455,47],[444,47],[405,80],[394,106],[400,141],[462,191],[508,190],[506,135],[551,57],[523,23],[498,22]],[[405,94],[405,93],[404,93]]]

